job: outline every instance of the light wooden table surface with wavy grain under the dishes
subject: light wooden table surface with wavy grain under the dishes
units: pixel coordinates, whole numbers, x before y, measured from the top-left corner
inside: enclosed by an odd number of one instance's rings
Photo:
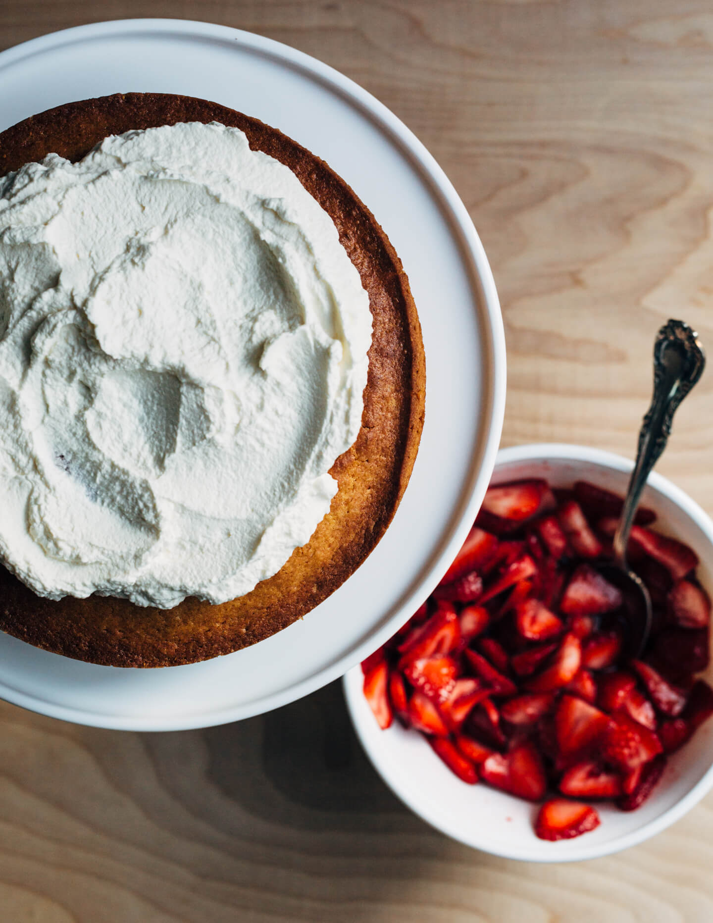
[[[287,42],[422,139],[500,291],[504,445],[631,455],[660,324],[688,320],[713,354],[709,0],[3,0],[0,48],[142,16]],[[709,513],[712,390],[709,372],[658,468]],[[0,722],[2,923],[713,920],[713,796],[615,857],[489,857],[391,795],[338,684],[204,731],[102,731],[7,704]]]

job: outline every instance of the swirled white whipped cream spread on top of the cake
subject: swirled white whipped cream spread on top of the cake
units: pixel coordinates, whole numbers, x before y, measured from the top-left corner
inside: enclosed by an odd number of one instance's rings
[[[0,556],[43,596],[220,603],[329,509],[369,299],[244,134],[190,123],[0,179]]]

